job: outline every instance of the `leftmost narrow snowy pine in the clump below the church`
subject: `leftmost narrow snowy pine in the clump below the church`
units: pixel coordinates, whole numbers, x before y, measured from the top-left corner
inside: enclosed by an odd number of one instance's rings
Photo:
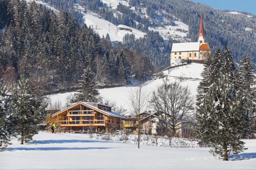
[[[204,69],[201,73],[202,81],[199,83],[197,87],[197,105],[202,104],[202,99],[204,98],[205,94],[207,93],[209,86],[210,86],[210,78],[211,78],[211,57],[207,56],[205,62],[204,62]]]

